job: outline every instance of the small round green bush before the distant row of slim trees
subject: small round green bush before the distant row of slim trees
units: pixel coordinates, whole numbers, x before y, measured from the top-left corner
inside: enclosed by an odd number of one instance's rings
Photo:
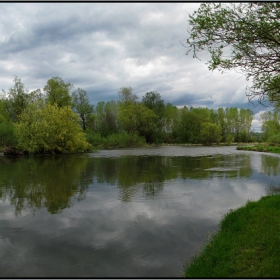
[[[204,122],[201,125],[201,138],[204,144],[211,145],[213,143],[219,143],[221,140],[222,129],[220,126],[210,123]]]

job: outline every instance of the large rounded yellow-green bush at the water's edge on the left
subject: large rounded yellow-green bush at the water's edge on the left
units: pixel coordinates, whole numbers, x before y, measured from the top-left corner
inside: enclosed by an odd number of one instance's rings
[[[18,146],[31,153],[77,152],[88,148],[78,116],[68,106],[30,104],[15,127]]]

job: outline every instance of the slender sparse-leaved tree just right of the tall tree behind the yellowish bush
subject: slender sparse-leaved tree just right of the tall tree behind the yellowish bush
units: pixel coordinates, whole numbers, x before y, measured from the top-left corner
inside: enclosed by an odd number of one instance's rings
[[[81,126],[86,130],[90,115],[93,114],[93,105],[89,103],[89,98],[85,90],[78,88],[72,93],[72,108],[74,112],[78,113]]]

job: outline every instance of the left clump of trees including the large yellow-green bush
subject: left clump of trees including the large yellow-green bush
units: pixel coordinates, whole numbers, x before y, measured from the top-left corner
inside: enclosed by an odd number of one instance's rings
[[[48,80],[44,94],[29,93],[18,77],[0,99],[1,145],[16,146],[30,153],[79,152],[89,148],[71,109],[71,84],[61,78]],[[13,150],[13,149],[12,149]]]

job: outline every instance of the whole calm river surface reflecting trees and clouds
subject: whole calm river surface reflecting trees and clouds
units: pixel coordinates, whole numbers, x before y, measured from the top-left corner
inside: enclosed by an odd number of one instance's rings
[[[235,147],[0,156],[0,277],[180,277],[279,171],[278,155]]]

